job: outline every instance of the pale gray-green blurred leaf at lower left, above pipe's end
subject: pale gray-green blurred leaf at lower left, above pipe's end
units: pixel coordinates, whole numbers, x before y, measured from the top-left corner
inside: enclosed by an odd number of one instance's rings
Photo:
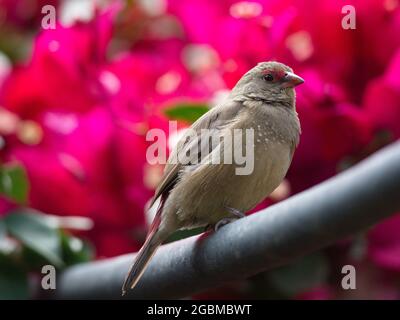
[[[58,230],[46,222],[46,217],[33,210],[17,210],[5,217],[8,232],[46,261],[61,268],[61,239]]]

